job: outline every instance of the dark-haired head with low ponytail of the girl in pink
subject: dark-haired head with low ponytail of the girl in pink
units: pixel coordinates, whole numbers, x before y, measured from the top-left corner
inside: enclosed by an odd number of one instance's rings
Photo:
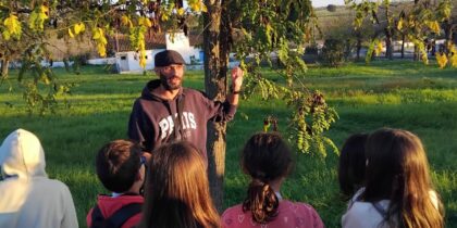
[[[246,143],[240,163],[251,177],[243,210],[250,211],[257,223],[267,223],[277,215],[279,199],[271,183],[291,170],[291,149],[277,134],[256,134]]]

